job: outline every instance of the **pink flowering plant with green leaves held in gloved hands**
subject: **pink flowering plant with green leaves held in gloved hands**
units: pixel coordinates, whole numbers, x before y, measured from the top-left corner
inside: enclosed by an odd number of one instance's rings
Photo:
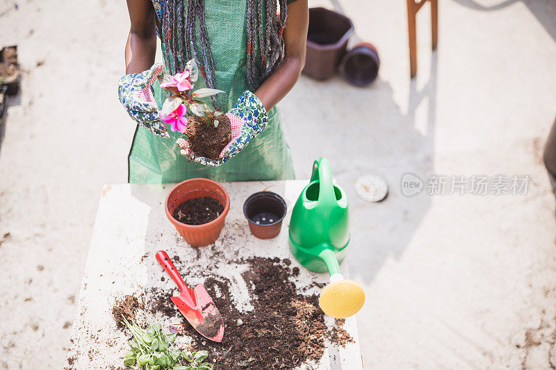
[[[174,76],[161,74],[158,78],[161,87],[170,92],[162,109],[158,114],[161,119],[170,125],[170,130],[185,133],[187,128],[187,110],[195,115],[199,121],[207,126],[218,127],[217,117],[222,115],[218,110],[213,111],[204,101],[200,100],[206,96],[220,94],[222,90],[202,88],[193,91],[193,83],[197,82],[199,68],[194,59],[186,64],[182,73]]]

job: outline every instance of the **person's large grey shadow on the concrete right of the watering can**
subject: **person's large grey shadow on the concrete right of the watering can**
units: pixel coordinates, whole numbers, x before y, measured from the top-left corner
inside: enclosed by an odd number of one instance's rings
[[[403,196],[400,180],[407,172],[423,180],[432,172],[436,60],[435,52],[424,85],[411,81],[407,112],[380,78],[370,87],[356,88],[338,77],[325,82],[303,77],[281,107],[296,178],[309,178],[312,161],[322,155],[347,192],[352,230],[358,230],[352,233],[347,260],[352,276],[366,283],[387,258],[402,254],[430,208],[425,194]],[[318,117],[304,121],[304,112]],[[384,201],[368,203],[357,196],[354,183],[364,174],[377,174],[389,184]]]

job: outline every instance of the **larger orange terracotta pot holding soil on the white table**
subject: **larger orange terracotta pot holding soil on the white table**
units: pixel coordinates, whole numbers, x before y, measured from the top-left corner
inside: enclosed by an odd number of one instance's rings
[[[224,211],[213,221],[202,225],[187,225],[174,219],[174,210],[188,199],[210,196],[224,207]],[[206,246],[212,244],[220,236],[224,227],[224,219],[230,209],[230,199],[224,187],[208,178],[191,178],[176,185],[166,196],[166,217],[176,227],[178,233],[191,246]]]

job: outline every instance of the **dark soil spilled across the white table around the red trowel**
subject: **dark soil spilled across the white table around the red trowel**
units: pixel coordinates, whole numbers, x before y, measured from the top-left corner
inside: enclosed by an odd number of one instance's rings
[[[353,339],[339,326],[327,330],[324,314],[318,307],[318,296],[298,294],[288,280],[293,271],[280,260],[252,258],[243,278],[252,288],[254,310],[240,312],[231,299],[231,283],[222,277],[208,277],[204,287],[213,298],[222,319],[222,343],[208,341],[185,323],[186,333],[193,337],[194,350],[207,350],[215,359],[215,369],[292,369],[307,360],[320,360],[325,351],[325,338],[345,345]],[[288,265],[284,260],[284,264]],[[297,271],[298,274],[298,271]],[[220,292],[220,296],[217,295]],[[174,316],[175,308],[166,292],[152,292],[154,308]]]

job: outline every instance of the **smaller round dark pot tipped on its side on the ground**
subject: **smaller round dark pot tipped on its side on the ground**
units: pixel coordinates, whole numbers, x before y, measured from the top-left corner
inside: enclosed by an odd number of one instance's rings
[[[351,85],[361,87],[375,81],[379,67],[377,48],[368,42],[360,42],[343,56],[340,74]]]

